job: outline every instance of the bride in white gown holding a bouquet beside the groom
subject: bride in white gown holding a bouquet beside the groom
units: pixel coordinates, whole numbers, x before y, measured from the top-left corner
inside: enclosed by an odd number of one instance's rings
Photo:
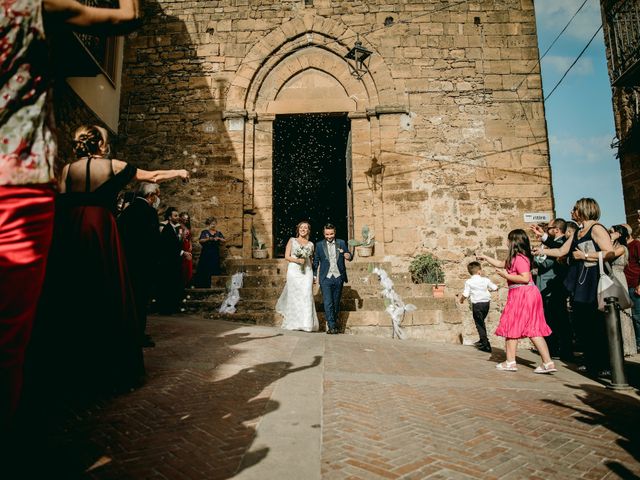
[[[289,262],[287,283],[276,304],[276,312],[284,317],[282,328],[317,332],[318,315],[313,301],[313,242],[309,240],[311,225],[300,222],[296,237],[287,242],[284,258]]]

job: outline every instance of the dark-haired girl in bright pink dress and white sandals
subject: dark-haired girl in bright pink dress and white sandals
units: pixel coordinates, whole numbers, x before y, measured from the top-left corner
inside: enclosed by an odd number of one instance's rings
[[[509,232],[509,256],[506,262],[479,255],[479,260],[486,260],[497,268],[496,273],[507,280],[509,294],[507,304],[500,316],[496,335],[506,339],[506,361],[496,368],[506,372],[516,372],[516,349],[518,339],[529,338],[542,357],[542,365],[535,368],[534,373],[552,373],[557,369],[549,355],[547,342],[543,337],[551,334],[551,329],[544,319],[542,296],[531,278],[531,246],[524,230]]]

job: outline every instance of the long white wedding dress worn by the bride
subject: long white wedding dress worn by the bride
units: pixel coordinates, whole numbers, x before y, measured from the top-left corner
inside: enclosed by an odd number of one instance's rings
[[[291,251],[302,247],[292,238]],[[313,253],[313,243],[311,252]],[[317,332],[319,330],[316,304],[313,301],[313,254],[305,259],[304,271],[299,263],[290,262],[287,268],[287,283],[276,304],[276,312],[284,317],[281,328],[285,330],[303,330]]]

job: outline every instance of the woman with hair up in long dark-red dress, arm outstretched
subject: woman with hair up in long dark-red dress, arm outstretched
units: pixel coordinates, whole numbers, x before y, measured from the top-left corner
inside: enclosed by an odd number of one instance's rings
[[[133,291],[115,218],[131,181],[188,178],[105,158],[107,132],[80,127],[60,180],[55,230],[33,338],[38,379],[73,390],[126,391],[144,375]]]

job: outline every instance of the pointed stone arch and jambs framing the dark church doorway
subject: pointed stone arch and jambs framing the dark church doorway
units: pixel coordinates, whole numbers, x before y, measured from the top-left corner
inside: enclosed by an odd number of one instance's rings
[[[351,76],[344,55],[349,50],[346,42],[355,38],[355,32],[341,22],[314,16],[297,18],[254,45],[238,68],[227,93],[224,116],[230,127],[235,126],[229,128],[230,137],[244,158],[244,256],[250,256],[252,226],[273,245],[272,141],[278,114],[348,114],[353,185],[365,192],[353,200],[356,229],[368,224],[383,230],[383,215],[376,216],[373,206],[374,197],[380,194],[366,192],[364,172],[376,152],[395,146],[395,131],[381,135],[385,127],[381,127],[380,115],[408,110],[401,106],[380,55],[374,55],[368,74],[361,80]],[[384,255],[383,244],[376,254]]]

